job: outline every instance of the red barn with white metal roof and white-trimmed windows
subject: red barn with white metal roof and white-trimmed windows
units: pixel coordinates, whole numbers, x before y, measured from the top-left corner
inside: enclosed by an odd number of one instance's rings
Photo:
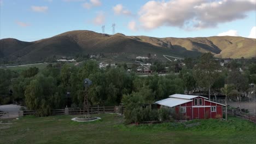
[[[173,107],[176,114],[184,119],[222,118],[222,106],[199,95],[173,94],[169,98],[156,101],[158,107]]]

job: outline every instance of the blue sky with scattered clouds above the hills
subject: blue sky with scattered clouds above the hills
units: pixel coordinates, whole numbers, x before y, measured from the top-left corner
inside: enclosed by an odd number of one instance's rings
[[[256,0],[0,0],[0,39],[90,30],[150,37],[256,38]]]

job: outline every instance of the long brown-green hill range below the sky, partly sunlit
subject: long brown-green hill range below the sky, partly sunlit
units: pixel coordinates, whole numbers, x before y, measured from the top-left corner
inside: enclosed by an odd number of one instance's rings
[[[16,39],[0,40],[0,60],[34,62],[47,57],[75,56],[93,53],[125,53],[129,58],[152,53],[158,57],[199,56],[201,52],[211,52],[219,58],[256,57],[256,39],[243,37],[208,38],[153,38],[146,36],[126,36],[124,34],[101,35],[92,31],[71,31],[51,38],[33,42]]]

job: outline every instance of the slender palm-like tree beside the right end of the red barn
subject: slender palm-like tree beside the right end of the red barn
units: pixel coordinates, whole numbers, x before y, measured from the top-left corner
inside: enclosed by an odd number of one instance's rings
[[[225,120],[228,120],[228,97],[230,97],[231,95],[234,95],[235,93],[237,93],[237,91],[235,90],[235,86],[234,85],[227,85],[225,84],[223,88],[220,89],[220,91],[225,94],[225,105],[226,105],[226,113],[225,113]]]

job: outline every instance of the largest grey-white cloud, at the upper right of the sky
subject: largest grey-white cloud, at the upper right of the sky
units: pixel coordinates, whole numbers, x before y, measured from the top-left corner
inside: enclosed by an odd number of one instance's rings
[[[254,0],[149,1],[139,10],[145,29],[174,26],[188,30],[216,27],[219,23],[244,19],[255,10]]]

